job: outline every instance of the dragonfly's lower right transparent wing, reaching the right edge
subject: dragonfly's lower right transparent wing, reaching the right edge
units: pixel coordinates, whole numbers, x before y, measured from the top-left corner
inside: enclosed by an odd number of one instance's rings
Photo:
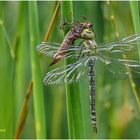
[[[111,78],[113,77],[113,79],[127,78],[130,72],[134,73],[134,77],[140,77],[140,64],[136,60],[114,59],[105,56],[99,56],[99,60],[105,66],[105,70],[109,72],[109,76]]]

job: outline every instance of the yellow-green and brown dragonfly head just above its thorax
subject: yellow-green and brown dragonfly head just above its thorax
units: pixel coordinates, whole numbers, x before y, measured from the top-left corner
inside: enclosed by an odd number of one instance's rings
[[[95,33],[92,29],[92,24],[89,22],[82,23],[83,28],[81,32],[81,37],[84,39],[94,39],[95,38]]]

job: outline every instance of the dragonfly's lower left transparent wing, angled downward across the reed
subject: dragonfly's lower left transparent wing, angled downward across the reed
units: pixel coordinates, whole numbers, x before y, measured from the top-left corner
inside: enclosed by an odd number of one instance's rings
[[[87,64],[90,58],[83,57],[75,63],[56,68],[45,75],[43,83],[46,85],[63,85],[78,82],[87,75]]]

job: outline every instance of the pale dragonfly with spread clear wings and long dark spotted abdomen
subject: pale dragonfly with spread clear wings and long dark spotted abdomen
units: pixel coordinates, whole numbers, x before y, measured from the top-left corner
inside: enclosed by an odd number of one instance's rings
[[[86,31],[87,29],[83,29],[81,36]],[[136,77],[140,76],[137,51],[137,46],[140,44],[140,34],[133,34],[109,43],[97,44],[95,33],[92,30],[92,37],[83,38],[78,45],[69,45],[62,49],[60,47],[62,44],[42,42],[37,46],[37,51],[40,54],[53,57],[53,62],[56,54],[63,54],[60,60],[70,61],[65,66],[49,71],[45,75],[43,83],[45,85],[73,84],[87,76],[88,68],[91,122],[97,132],[94,67],[99,62],[115,79],[127,78],[130,73]]]

